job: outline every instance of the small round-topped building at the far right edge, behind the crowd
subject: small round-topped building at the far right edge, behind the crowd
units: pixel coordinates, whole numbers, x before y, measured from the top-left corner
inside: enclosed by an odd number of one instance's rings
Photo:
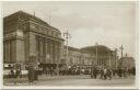
[[[128,57],[128,56],[121,57],[119,59],[118,67],[120,67],[120,68],[135,68],[136,67],[135,58]]]

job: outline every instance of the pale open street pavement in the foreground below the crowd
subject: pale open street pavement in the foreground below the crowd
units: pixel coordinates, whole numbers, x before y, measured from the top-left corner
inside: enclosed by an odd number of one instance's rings
[[[4,79],[7,86],[31,86],[27,78]],[[85,87],[132,87],[135,77],[128,78],[114,77],[112,80],[91,79],[89,75],[83,76],[39,76],[38,80],[32,86],[61,87],[61,86],[85,86]]]

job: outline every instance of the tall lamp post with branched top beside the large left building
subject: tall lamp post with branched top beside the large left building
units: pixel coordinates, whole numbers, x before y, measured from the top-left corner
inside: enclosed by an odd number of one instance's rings
[[[68,42],[69,42],[69,38],[71,38],[71,35],[67,31],[66,33],[63,33],[63,37],[66,37],[66,64],[68,67]]]

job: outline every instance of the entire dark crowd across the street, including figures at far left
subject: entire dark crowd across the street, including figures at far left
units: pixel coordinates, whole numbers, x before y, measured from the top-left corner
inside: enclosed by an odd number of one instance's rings
[[[103,80],[112,80],[113,77],[117,76],[119,78],[124,77],[127,78],[130,75],[135,75],[135,68],[128,69],[128,68],[110,68],[110,67],[91,67],[91,68],[63,68],[57,70],[57,68],[50,68],[50,69],[38,69],[39,67],[30,65],[27,66],[27,78],[31,83],[38,80],[38,75],[46,74],[50,76],[56,76],[59,74],[59,76],[80,76],[80,75],[90,75],[91,78],[100,78]],[[59,71],[59,72],[58,72]],[[9,72],[9,78],[22,78],[22,70],[21,68],[13,69],[11,68]]]

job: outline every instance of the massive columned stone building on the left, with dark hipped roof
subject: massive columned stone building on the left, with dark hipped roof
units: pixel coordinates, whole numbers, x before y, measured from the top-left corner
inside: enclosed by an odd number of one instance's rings
[[[45,21],[23,11],[3,19],[3,61],[37,63],[56,67],[60,63],[61,32]]]

